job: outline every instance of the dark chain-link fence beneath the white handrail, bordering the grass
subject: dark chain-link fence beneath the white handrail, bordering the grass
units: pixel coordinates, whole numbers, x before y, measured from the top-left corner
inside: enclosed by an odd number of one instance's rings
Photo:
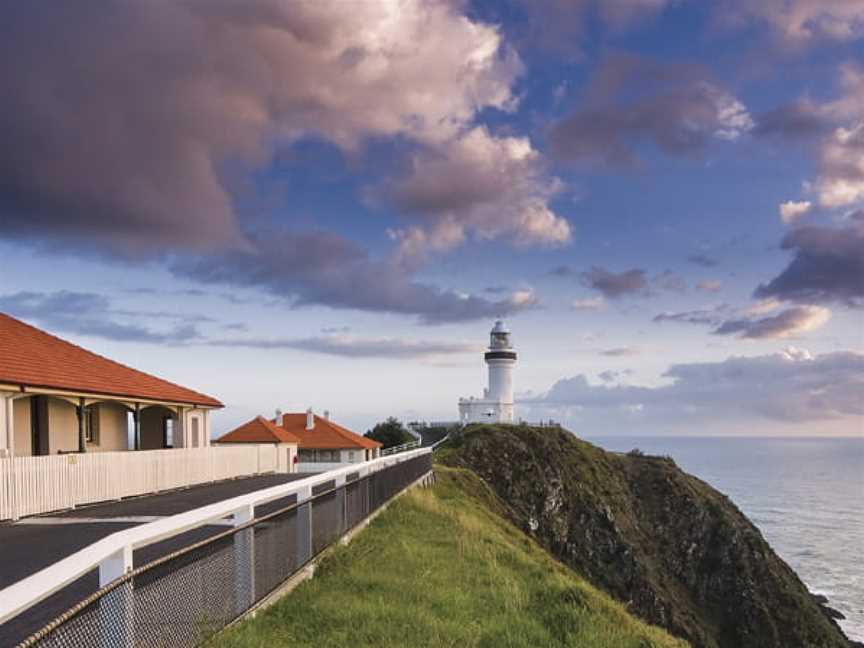
[[[431,453],[296,500],[139,567],[20,646],[196,646],[273,592],[346,531],[432,469]],[[272,506],[270,507],[272,508]]]

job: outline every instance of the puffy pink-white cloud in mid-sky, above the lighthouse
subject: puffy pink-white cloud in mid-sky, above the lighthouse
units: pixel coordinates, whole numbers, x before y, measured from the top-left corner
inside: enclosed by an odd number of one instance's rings
[[[403,254],[418,257],[453,248],[469,233],[523,245],[567,243],[570,224],[549,207],[561,186],[527,138],[495,137],[477,126],[415,153],[406,175],[382,191],[403,214],[433,221],[395,232]]]

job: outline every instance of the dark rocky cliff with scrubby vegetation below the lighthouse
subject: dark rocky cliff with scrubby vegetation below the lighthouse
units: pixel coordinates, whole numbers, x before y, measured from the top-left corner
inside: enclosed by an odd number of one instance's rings
[[[445,445],[441,460],[478,474],[550,553],[694,646],[850,645],[735,505],[671,459],[516,426]]]

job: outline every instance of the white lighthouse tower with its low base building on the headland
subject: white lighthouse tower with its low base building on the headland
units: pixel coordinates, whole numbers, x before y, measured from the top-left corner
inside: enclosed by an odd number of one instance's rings
[[[483,390],[482,398],[459,399],[459,421],[463,424],[512,423],[516,351],[510,340],[510,329],[501,320],[492,327],[484,359],[489,367],[489,386]]]

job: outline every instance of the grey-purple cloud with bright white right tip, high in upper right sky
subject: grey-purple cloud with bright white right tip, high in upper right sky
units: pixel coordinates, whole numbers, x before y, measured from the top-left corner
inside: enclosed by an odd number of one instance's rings
[[[670,155],[694,155],[711,140],[734,141],[755,125],[705,70],[625,54],[598,68],[581,106],[550,132],[559,159],[634,166],[642,142]]]

